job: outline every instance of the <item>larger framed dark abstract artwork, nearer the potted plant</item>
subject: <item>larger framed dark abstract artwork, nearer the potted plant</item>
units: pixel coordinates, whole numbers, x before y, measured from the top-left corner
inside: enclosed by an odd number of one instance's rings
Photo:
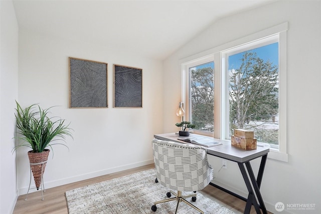
[[[69,107],[108,108],[108,64],[69,57]]]

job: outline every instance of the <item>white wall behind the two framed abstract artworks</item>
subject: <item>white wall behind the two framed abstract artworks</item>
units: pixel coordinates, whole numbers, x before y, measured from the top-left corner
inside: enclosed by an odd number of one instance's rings
[[[112,43],[112,41],[110,41]],[[139,50],[138,50],[139,51]],[[109,108],[70,109],[68,57],[108,63]],[[113,64],[142,69],[143,107],[113,108]],[[71,122],[73,137],[56,145],[44,174],[53,187],[152,163],[151,139],[163,132],[163,65],[138,53],[20,29],[19,102],[39,103]],[[19,149],[19,194],[29,184],[28,149]]]

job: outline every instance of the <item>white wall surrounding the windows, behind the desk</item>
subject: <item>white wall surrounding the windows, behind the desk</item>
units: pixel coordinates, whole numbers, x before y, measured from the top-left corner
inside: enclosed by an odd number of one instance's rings
[[[176,80],[176,84],[166,84],[164,88],[164,109],[169,110],[181,96],[179,92],[173,94],[181,87],[181,59],[288,22],[287,142],[281,143],[287,143],[289,160],[268,159],[261,186],[267,209],[273,213],[277,213],[276,202],[283,202],[285,206],[315,204],[314,210],[285,209],[284,212],[321,212],[320,12],[320,1],[280,1],[229,16],[215,22],[164,62],[164,80]],[[165,117],[166,132],[176,131],[174,122],[174,118]],[[221,160],[213,157],[211,163],[217,173]],[[259,166],[257,160],[252,164],[254,170]],[[227,165],[227,169],[216,174],[214,182],[247,196],[238,166],[233,162]]]

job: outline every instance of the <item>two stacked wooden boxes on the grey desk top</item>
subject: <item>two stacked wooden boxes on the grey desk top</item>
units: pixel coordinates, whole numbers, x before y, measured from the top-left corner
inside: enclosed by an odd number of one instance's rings
[[[245,150],[256,149],[254,132],[245,129],[234,129],[234,135],[231,136],[231,144]]]

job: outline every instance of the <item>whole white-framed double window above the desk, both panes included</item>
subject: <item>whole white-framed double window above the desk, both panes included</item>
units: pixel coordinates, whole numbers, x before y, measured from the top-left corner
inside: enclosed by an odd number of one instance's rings
[[[185,120],[197,125],[194,133],[229,140],[235,128],[254,130],[258,142],[270,145],[269,158],[288,160],[287,25],[181,60]]]

